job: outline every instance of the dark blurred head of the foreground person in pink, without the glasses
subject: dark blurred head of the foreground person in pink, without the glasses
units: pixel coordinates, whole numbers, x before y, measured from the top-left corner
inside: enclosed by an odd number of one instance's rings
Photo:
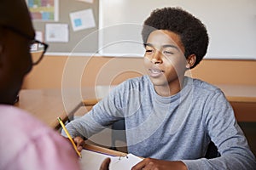
[[[0,0],[0,104],[12,105],[32,69],[35,37],[25,0]]]

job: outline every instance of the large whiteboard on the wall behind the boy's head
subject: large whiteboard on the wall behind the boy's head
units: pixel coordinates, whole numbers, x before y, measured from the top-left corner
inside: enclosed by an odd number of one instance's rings
[[[99,54],[143,56],[143,21],[155,8],[177,6],[207,26],[207,59],[256,59],[256,0],[100,0],[99,5]]]

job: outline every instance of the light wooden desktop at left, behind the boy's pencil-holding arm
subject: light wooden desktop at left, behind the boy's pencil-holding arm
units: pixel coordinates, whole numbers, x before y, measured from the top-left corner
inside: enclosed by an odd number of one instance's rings
[[[82,94],[82,95],[81,95]],[[60,127],[57,117],[67,122],[69,116],[84,103],[95,103],[95,88],[77,89],[22,89],[20,100],[15,106],[28,111],[32,116],[57,129]]]

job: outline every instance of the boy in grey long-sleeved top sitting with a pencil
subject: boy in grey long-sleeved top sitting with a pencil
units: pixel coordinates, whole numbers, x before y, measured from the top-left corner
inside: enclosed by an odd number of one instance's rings
[[[256,169],[221,90],[184,76],[207,53],[201,21],[181,8],[156,9],[142,35],[148,75],[121,83],[89,113],[67,124],[79,150],[84,137],[124,119],[128,152],[146,158],[133,170]],[[210,141],[218,147],[217,158],[204,158]]]

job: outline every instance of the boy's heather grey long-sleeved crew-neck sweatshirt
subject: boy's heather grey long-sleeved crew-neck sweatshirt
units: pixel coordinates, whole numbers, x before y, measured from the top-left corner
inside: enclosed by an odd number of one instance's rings
[[[162,97],[148,76],[129,79],[67,130],[89,138],[119,119],[125,119],[128,151],[134,155],[180,160],[189,169],[256,169],[230,103],[207,82],[185,77],[178,94]],[[211,140],[221,156],[206,159]]]

